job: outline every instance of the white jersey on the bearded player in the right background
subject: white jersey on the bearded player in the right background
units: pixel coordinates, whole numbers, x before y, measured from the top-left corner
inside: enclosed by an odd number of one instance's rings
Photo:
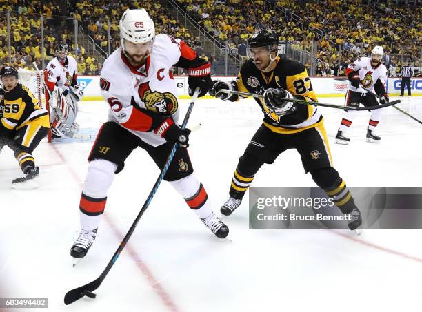
[[[354,70],[359,72],[359,78],[361,79],[361,85],[363,87],[374,91],[374,85],[379,79],[383,85],[385,85],[385,80],[387,79],[387,68],[382,63],[379,63],[378,66],[372,67],[370,57],[362,57],[354,61],[348,66],[348,70]],[[355,92],[366,93],[367,91],[363,90],[361,87],[356,89],[352,84],[348,83],[348,89]]]

